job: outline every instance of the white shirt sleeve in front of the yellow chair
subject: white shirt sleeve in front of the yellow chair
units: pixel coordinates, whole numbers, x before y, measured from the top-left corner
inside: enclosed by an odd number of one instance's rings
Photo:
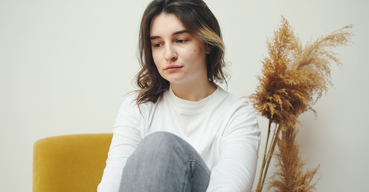
[[[132,102],[132,97],[127,98],[115,120],[106,167],[97,186],[98,192],[118,192],[125,163],[142,140],[139,117],[138,107]]]

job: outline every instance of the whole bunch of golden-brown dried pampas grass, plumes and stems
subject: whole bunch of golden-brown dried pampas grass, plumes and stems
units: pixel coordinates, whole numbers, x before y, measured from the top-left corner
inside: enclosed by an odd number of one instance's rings
[[[346,46],[351,42],[352,33],[347,30],[352,27],[353,25],[344,26],[329,35],[319,37],[303,48],[301,40],[294,35],[289,22],[282,16],[281,25],[274,31],[274,38],[267,41],[269,57],[263,59],[262,75],[257,76],[260,85],[256,92],[248,97],[254,103],[255,109],[269,119],[256,192],[261,192],[263,188],[277,141],[279,170],[273,175],[274,180],[269,182],[269,189],[299,192],[314,189],[315,184],[310,182],[317,173],[317,168],[306,173],[301,171],[303,163],[295,141],[296,124],[300,124],[297,117],[307,110],[314,111],[312,106],[327,92],[328,87],[333,85],[330,64],[342,63],[331,49]],[[276,128],[267,150],[272,123]]]

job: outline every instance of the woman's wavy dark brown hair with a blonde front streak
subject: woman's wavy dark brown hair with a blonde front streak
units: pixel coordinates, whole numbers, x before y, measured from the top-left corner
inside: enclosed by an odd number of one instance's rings
[[[156,103],[159,96],[169,88],[169,82],[161,77],[154,63],[151,50],[150,25],[159,14],[174,14],[190,34],[211,45],[207,54],[207,76],[211,83],[225,82],[225,46],[217,19],[202,0],[154,0],[146,7],[139,30],[138,59],[141,70],[136,75],[138,96],[136,103]]]

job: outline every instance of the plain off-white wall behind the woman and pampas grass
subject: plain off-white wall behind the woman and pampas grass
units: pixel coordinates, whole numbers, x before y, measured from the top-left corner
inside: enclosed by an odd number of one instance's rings
[[[149,0],[131,2],[0,1],[1,191],[31,191],[36,140],[111,132],[123,95],[134,89],[138,24]],[[317,191],[366,191],[368,1],[206,2],[232,62],[228,91],[238,97],[258,85],[266,37],[281,14],[303,42],[355,24],[354,44],[335,49],[344,63],[332,66],[335,87],[315,105],[317,120],[301,115],[298,141],[307,167],[320,164]],[[262,157],[268,124],[259,122]]]

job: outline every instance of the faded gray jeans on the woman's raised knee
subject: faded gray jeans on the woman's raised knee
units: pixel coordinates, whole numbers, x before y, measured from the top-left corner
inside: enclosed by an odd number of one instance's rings
[[[119,192],[205,192],[209,180],[209,168],[189,143],[159,131],[127,159]]]

